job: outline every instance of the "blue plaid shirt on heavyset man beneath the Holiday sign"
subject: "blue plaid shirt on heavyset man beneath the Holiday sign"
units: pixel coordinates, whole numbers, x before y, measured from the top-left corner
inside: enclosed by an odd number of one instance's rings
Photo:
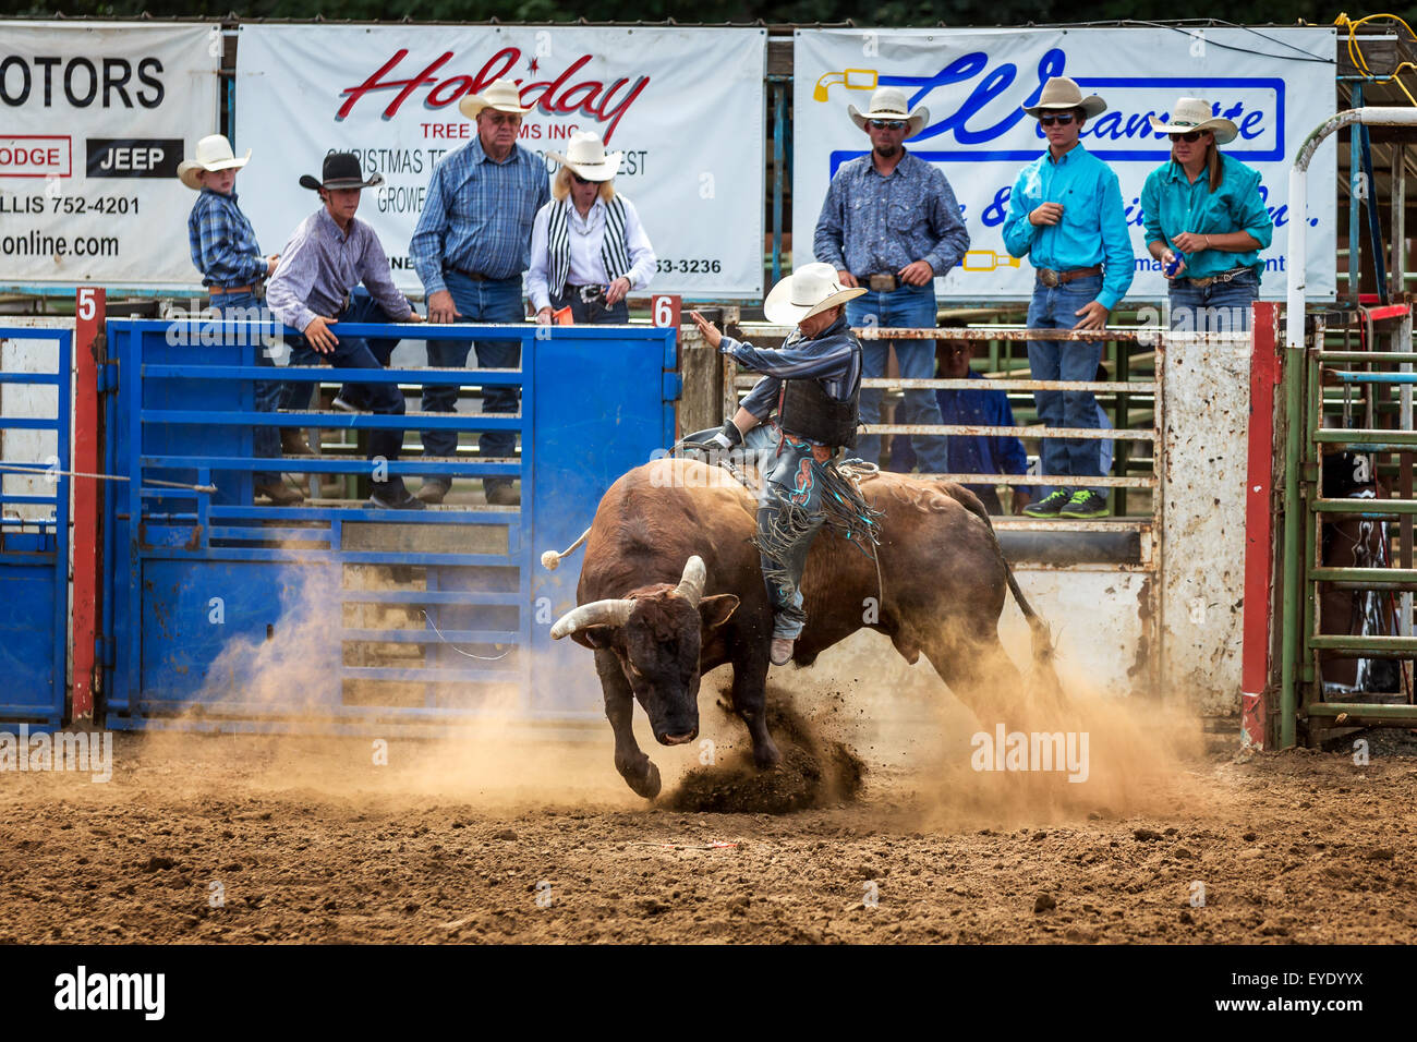
[[[497,163],[473,138],[438,160],[408,244],[424,292],[448,288],[444,268],[493,279],[524,272],[531,264],[531,223],[551,200],[550,186],[546,163],[520,145]]]

